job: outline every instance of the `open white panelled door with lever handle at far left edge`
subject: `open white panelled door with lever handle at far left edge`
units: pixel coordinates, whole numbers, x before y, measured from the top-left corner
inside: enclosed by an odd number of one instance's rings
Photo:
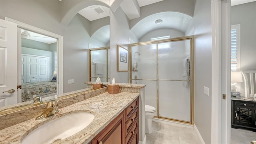
[[[0,106],[16,103],[17,25],[0,19]]]

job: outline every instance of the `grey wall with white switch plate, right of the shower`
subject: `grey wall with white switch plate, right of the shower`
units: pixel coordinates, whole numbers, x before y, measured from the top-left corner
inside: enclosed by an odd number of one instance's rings
[[[204,94],[204,86],[212,87],[212,33],[211,1],[197,0],[194,17],[186,35],[195,34],[194,48],[194,123],[204,142],[211,143],[211,105],[212,96]],[[190,34],[189,34],[190,33]]]

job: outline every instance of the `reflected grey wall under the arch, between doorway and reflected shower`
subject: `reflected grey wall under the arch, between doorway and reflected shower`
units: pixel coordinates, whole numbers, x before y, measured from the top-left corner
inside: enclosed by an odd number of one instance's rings
[[[63,60],[63,90],[70,92],[86,88],[84,82],[88,81],[88,38],[90,21],[80,14],[68,24],[64,33],[64,60]],[[68,80],[74,79],[74,84],[68,84]]]

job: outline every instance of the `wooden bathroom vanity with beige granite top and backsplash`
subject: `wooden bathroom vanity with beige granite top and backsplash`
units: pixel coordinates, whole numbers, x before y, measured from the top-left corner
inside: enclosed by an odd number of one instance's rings
[[[86,93],[80,93],[68,98],[58,100],[59,112],[53,116],[35,120],[41,112],[36,112],[32,119],[10,125],[0,130],[1,144],[20,144],[22,140],[36,128],[65,115],[87,112],[94,115],[92,122],[80,132],[68,138],[55,140],[54,144],[104,144],[114,142],[120,144],[138,144],[145,141],[145,130],[143,130],[143,111],[141,102],[142,92],[146,85],[119,84],[120,93],[108,94],[107,88],[100,88]],[[72,103],[72,104],[68,104]],[[65,106],[67,104],[67,106]],[[140,110],[142,108],[142,110]],[[28,108],[20,112],[34,111],[36,108]],[[14,112],[17,114],[17,112]],[[14,114],[5,114],[10,121],[17,120]],[[0,115],[0,119],[4,117]],[[17,117],[17,115],[16,115]],[[22,116],[20,116],[22,118]],[[5,122],[8,124],[8,122]],[[44,138],[44,136],[42,136]]]

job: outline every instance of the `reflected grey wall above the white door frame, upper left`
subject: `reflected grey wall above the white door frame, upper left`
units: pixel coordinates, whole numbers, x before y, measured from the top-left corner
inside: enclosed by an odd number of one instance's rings
[[[0,18],[6,16],[63,35],[59,4],[58,0],[0,0]]]

